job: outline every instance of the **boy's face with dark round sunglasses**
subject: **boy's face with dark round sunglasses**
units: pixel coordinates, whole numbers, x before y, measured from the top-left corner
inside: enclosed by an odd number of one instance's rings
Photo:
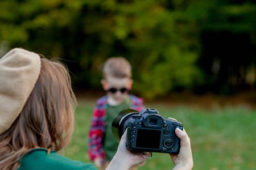
[[[131,90],[133,80],[129,78],[114,78],[108,76],[101,80],[102,86],[112,100],[121,103]]]

